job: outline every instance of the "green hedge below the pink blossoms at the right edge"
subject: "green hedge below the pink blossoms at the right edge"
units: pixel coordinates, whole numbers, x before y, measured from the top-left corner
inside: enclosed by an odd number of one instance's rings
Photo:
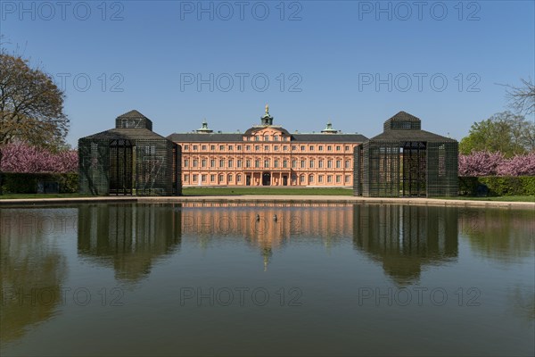
[[[535,195],[535,176],[459,178],[459,195]]]

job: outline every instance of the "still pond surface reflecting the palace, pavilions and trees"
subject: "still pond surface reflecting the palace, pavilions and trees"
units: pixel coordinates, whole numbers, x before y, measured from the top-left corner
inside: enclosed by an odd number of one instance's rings
[[[0,354],[533,355],[535,212],[0,210]]]

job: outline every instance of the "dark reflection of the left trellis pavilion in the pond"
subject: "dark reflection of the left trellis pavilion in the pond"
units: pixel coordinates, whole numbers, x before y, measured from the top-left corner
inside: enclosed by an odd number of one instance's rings
[[[78,253],[136,281],[182,237],[179,205],[95,204],[78,208]]]

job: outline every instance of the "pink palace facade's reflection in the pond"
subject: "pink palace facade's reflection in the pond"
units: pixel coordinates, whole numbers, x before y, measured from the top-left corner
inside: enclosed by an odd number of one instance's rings
[[[328,246],[350,237],[352,211],[345,203],[183,203],[184,235],[243,238],[258,247],[265,268],[273,249],[290,240],[321,239]]]

